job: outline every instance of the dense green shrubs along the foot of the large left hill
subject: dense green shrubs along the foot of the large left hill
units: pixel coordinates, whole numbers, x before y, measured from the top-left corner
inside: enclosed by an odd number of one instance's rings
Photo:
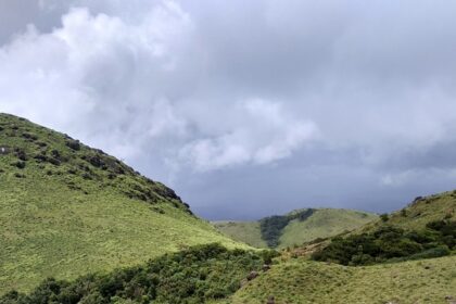
[[[48,279],[27,295],[12,291],[0,303],[204,303],[235,293],[240,281],[258,270],[265,259],[270,259],[269,252],[200,245],[141,267],[90,275],[74,282]]]

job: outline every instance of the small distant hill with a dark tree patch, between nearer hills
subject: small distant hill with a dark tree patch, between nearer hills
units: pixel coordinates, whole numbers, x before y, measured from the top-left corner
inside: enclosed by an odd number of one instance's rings
[[[225,220],[213,225],[232,239],[252,246],[283,249],[353,230],[377,218],[375,214],[352,210],[305,208],[257,221]]]

